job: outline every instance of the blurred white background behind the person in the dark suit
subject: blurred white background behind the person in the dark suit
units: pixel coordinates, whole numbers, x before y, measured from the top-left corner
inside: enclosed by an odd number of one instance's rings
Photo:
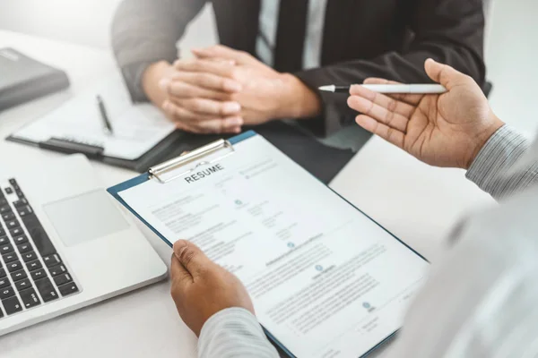
[[[374,1],[374,0],[372,0]],[[0,29],[109,48],[110,23],[121,0],[0,0]],[[494,84],[490,102],[497,115],[519,129],[538,129],[534,102],[538,81],[536,0],[492,0],[488,15],[486,64]],[[217,42],[207,5],[179,47]]]

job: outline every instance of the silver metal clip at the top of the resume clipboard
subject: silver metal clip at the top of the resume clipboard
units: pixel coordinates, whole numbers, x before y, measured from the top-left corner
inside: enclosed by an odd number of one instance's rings
[[[213,154],[216,154],[217,152],[220,152],[220,151],[224,151],[224,153],[222,155],[216,156],[215,158],[208,158],[208,157],[213,157]],[[206,165],[212,164],[213,162],[216,162],[217,160],[221,160],[222,158],[226,158],[232,155],[234,152],[235,152],[235,149],[233,149],[233,145],[230,143],[230,141],[226,141],[226,140],[213,141],[213,143],[207,144],[204,147],[200,147],[198,149],[190,151],[183,156],[170,159],[164,163],[161,163],[158,166],[152,166],[150,170],[148,170],[148,173],[150,174],[151,178],[157,179],[159,183],[162,183],[162,184],[169,183],[175,179],[178,179],[179,177],[183,175],[187,175],[189,173],[194,172],[198,166],[206,166]],[[208,159],[201,160],[204,158],[208,158]],[[180,171],[178,172],[178,174],[175,174],[169,178],[164,177],[164,175],[166,175],[167,173],[176,171],[178,170],[178,168],[182,166],[188,166],[189,164],[193,164],[193,166],[189,166],[185,170]]]

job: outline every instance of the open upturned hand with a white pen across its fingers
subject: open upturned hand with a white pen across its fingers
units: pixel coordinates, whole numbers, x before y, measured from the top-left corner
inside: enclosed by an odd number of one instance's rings
[[[443,84],[447,93],[388,97],[353,86],[348,104],[361,113],[357,116],[360,126],[421,161],[467,168],[502,122],[492,114],[482,90],[470,77],[433,60],[426,62],[426,72]]]

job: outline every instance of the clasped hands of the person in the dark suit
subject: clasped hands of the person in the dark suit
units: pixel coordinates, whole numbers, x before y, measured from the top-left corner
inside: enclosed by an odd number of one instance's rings
[[[243,125],[318,111],[317,96],[288,73],[274,71],[255,57],[229,47],[193,50],[179,59],[159,85],[162,110],[179,129],[197,133],[240,132]],[[295,98],[315,98],[300,107]],[[306,114],[308,115],[308,113]]]

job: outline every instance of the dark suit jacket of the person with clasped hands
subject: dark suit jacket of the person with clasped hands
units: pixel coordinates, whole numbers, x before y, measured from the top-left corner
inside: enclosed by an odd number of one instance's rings
[[[293,0],[282,0],[293,1]],[[135,99],[140,77],[152,62],[177,57],[176,43],[205,0],[124,0],[113,23],[117,61]],[[260,0],[213,0],[221,44],[256,55]],[[322,67],[296,72],[308,87],[361,83],[375,76],[403,82],[430,81],[432,57],[471,75],[481,85],[482,0],[328,0]],[[345,95],[322,94],[324,115],[300,121],[325,135],[353,121]]]

